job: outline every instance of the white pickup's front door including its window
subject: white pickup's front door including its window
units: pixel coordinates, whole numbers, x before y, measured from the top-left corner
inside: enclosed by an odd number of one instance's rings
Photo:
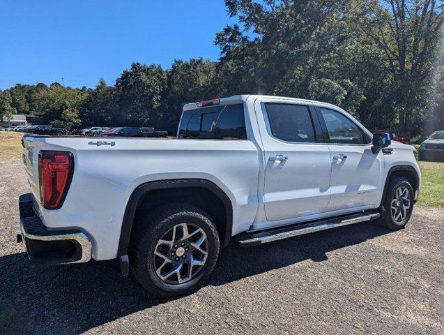
[[[382,191],[383,153],[372,152],[372,139],[340,110],[316,107],[332,156],[328,211],[376,204]]]

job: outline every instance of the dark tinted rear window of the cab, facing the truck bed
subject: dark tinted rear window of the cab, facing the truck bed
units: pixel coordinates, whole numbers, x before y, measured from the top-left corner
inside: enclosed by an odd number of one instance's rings
[[[243,104],[203,107],[183,112],[179,138],[246,140]]]

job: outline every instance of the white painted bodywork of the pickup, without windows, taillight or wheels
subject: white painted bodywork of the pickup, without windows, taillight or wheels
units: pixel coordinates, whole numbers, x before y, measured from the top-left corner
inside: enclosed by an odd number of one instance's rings
[[[413,147],[397,142],[390,147],[394,149],[392,155],[371,156],[369,147],[341,146],[348,158],[340,168],[332,166],[332,154],[338,151],[334,146],[275,140],[266,131],[260,108],[261,101],[270,100],[340,110],[293,98],[233,96],[221,99],[221,103],[244,103],[249,140],[26,137],[24,161],[37,199],[38,152],[70,151],[75,159],[74,176],[63,206],[47,210],[36,201],[40,218],[50,230],[83,230],[92,239],[93,258],[108,260],[116,258],[123,214],[132,191],[148,181],[212,181],[231,200],[235,235],[377,208],[392,166],[409,165],[420,174]],[[195,104],[187,104],[184,110],[193,107]],[[115,145],[89,144],[97,140]],[[272,154],[289,156],[289,161],[281,167],[270,164],[268,156]]]

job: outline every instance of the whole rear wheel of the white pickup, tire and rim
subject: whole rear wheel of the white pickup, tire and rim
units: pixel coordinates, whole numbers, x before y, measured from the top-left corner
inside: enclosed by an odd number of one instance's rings
[[[188,204],[169,204],[137,222],[132,272],[153,295],[174,297],[199,288],[219,254],[213,220]]]

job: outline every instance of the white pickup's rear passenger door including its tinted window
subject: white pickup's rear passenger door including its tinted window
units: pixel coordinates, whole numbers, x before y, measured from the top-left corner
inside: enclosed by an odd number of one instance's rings
[[[330,200],[330,151],[317,142],[321,131],[311,103],[257,99],[265,176],[263,202],[268,221],[326,211]]]

